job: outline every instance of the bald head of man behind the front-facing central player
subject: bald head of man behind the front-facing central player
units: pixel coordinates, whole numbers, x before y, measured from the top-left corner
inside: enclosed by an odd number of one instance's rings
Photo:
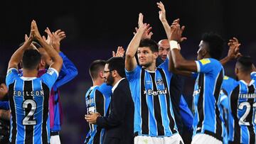
[[[161,60],[166,60],[168,52],[170,51],[169,40],[167,39],[160,40],[158,45],[159,45],[159,56],[161,57]]]

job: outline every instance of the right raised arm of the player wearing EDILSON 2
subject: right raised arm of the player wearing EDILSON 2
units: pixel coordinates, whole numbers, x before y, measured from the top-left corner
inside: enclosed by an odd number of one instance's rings
[[[61,69],[62,64],[63,64],[62,58],[60,57],[60,55],[58,55],[58,52],[56,52],[56,50],[54,50],[50,45],[48,45],[46,43],[45,40],[43,40],[43,38],[41,37],[41,35],[38,31],[36,21],[34,21],[34,20],[32,21],[32,26],[33,26],[33,29],[34,29],[34,33],[33,33],[34,37],[39,41],[39,43],[46,50],[46,52],[48,53],[50,58],[53,60],[53,64],[50,67],[53,67],[55,70],[60,72],[60,69]]]

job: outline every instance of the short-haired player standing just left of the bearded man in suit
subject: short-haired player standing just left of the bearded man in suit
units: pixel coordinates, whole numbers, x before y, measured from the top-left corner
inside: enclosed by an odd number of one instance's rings
[[[101,116],[106,116],[107,109],[110,106],[112,87],[105,83],[105,64],[105,60],[95,60],[90,65],[89,72],[93,85],[85,94],[87,115],[93,112],[100,113]],[[89,126],[90,131],[86,135],[85,143],[101,144],[105,130],[95,124],[89,124]]]

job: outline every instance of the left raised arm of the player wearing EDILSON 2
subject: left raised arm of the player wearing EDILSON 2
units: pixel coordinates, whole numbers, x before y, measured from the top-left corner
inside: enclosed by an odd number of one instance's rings
[[[18,64],[22,60],[22,56],[23,56],[24,51],[27,50],[29,48],[29,46],[31,45],[31,43],[33,41],[32,33],[34,31],[32,23],[31,23],[31,33],[30,33],[29,37],[23,43],[23,45],[21,45],[21,47],[18,48],[18,50],[16,50],[16,52],[14,52],[14,54],[11,56],[11,59],[9,60],[8,70],[10,68],[16,68],[18,70]]]

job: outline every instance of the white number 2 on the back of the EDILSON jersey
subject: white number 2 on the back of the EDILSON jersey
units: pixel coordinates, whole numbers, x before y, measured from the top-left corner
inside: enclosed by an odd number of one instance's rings
[[[27,99],[26,101],[23,101],[22,108],[23,109],[28,109],[28,104],[31,104],[31,111],[23,118],[22,124],[23,125],[36,125],[36,120],[29,120],[31,116],[36,111],[36,101],[33,101],[32,99]]]

